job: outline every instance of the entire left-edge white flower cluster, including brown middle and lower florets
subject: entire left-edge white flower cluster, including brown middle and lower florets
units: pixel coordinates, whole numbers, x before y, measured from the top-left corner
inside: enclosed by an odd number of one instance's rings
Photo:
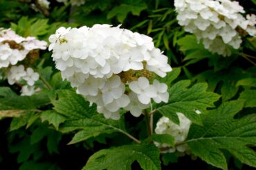
[[[46,50],[46,45],[46,41],[33,36],[24,38],[10,29],[0,30],[0,69],[10,85],[25,81],[21,85],[21,95],[31,96],[39,90],[34,86],[39,74],[28,65],[39,58],[39,50]]]

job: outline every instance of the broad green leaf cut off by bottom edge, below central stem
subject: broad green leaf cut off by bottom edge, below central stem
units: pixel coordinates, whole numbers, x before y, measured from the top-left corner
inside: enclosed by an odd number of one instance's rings
[[[142,169],[161,169],[160,151],[154,145],[125,145],[111,149],[102,149],[93,154],[83,170],[131,169],[136,160]]]

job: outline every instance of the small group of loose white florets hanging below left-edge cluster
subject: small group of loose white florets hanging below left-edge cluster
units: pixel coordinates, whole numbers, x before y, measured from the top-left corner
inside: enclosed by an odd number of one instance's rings
[[[35,89],[34,86],[35,81],[39,80],[39,74],[30,67],[25,70],[24,65],[12,66],[7,71],[6,76],[10,85],[20,83],[21,81],[26,82],[26,85],[21,87],[21,96],[31,96],[39,90],[38,88]]]

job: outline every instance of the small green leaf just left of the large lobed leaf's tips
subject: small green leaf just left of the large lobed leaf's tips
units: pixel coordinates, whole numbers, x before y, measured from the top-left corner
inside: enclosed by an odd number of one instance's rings
[[[43,122],[48,121],[48,123],[52,124],[57,130],[59,129],[59,125],[61,123],[64,123],[64,121],[66,120],[65,116],[57,114],[57,112],[54,110],[47,110],[42,112],[40,118]]]

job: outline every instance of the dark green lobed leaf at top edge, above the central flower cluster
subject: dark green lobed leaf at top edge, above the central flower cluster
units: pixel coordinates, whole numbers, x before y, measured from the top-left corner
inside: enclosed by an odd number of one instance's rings
[[[147,4],[144,1],[127,1],[127,3],[122,3],[120,6],[113,8],[107,14],[107,19],[111,19],[116,16],[118,21],[122,23],[129,12],[133,15],[139,16],[140,12],[145,9],[147,9]]]

